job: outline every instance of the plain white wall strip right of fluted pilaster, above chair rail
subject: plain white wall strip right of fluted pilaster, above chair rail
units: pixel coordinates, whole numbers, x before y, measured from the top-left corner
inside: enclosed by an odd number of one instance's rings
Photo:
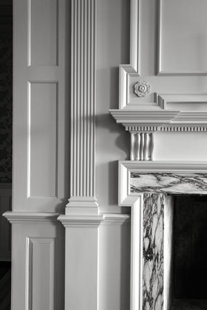
[[[108,110],[119,105],[119,64],[129,63],[130,1],[97,1],[97,200],[117,212],[118,160],[129,158],[130,134]]]

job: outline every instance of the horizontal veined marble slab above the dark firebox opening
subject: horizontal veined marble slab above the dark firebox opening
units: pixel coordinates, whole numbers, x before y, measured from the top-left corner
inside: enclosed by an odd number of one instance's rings
[[[130,174],[130,192],[207,194],[207,174]]]

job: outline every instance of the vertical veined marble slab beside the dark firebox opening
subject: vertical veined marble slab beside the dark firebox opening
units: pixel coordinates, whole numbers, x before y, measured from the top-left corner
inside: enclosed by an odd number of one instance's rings
[[[144,194],[143,310],[163,309],[164,194]]]

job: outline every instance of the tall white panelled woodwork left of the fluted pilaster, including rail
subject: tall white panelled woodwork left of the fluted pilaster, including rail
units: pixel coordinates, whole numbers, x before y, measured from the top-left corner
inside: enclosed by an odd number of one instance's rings
[[[15,0],[12,310],[64,308],[68,186],[66,0]],[[0,239],[1,240],[1,239]]]

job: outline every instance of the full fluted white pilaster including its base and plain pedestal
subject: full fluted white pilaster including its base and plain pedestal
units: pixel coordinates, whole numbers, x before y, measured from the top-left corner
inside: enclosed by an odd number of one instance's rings
[[[99,225],[95,198],[97,0],[71,1],[70,199],[66,215],[65,309],[99,307]]]

